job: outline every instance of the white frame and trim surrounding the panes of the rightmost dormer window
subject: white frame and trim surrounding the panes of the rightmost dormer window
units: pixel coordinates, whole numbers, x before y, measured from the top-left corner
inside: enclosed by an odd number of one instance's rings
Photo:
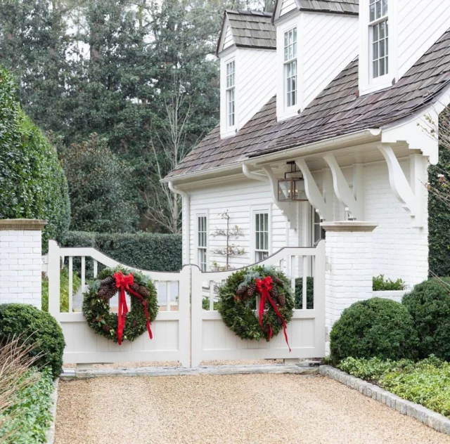
[[[364,96],[368,93],[380,91],[392,86],[398,79],[398,61],[397,61],[397,0],[388,0],[387,15],[370,20],[371,0],[359,1],[359,32],[360,32],[360,50],[359,50],[359,95]],[[388,53],[389,66],[387,74],[373,78],[372,75],[372,28],[371,26],[387,17],[389,23]]]

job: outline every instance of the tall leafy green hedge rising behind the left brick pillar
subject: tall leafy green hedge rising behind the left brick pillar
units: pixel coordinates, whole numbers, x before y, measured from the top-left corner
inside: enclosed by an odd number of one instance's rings
[[[47,221],[42,247],[69,228],[68,183],[56,150],[21,110],[11,75],[0,68],[0,218]]]

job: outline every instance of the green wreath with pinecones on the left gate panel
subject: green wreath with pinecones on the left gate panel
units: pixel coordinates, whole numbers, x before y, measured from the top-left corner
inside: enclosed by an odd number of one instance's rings
[[[83,314],[89,327],[94,329],[97,334],[118,343],[118,315],[110,313],[110,299],[117,294],[113,277],[116,272],[122,272],[126,276],[131,274],[129,270],[121,267],[105,268],[98,273],[97,279],[89,285],[88,291],[84,293]],[[158,295],[153,282],[142,273],[133,272],[132,275],[134,284],[130,286],[130,289],[139,294],[141,299],[127,292],[131,299],[131,309],[125,316],[122,338],[129,341],[134,341],[146,332],[147,319],[143,301],[146,302],[150,322],[155,320],[159,311]]]

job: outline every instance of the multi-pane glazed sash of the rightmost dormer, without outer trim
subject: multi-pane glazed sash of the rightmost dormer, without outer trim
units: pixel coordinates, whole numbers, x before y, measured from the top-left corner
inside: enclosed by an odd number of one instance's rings
[[[370,0],[369,8],[371,77],[377,79],[389,72],[387,0]]]

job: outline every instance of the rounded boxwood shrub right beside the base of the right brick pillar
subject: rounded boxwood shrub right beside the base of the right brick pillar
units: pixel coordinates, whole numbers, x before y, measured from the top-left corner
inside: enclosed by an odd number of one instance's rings
[[[418,338],[405,306],[372,298],[346,308],[330,333],[333,363],[352,358],[401,359],[416,355]]]

